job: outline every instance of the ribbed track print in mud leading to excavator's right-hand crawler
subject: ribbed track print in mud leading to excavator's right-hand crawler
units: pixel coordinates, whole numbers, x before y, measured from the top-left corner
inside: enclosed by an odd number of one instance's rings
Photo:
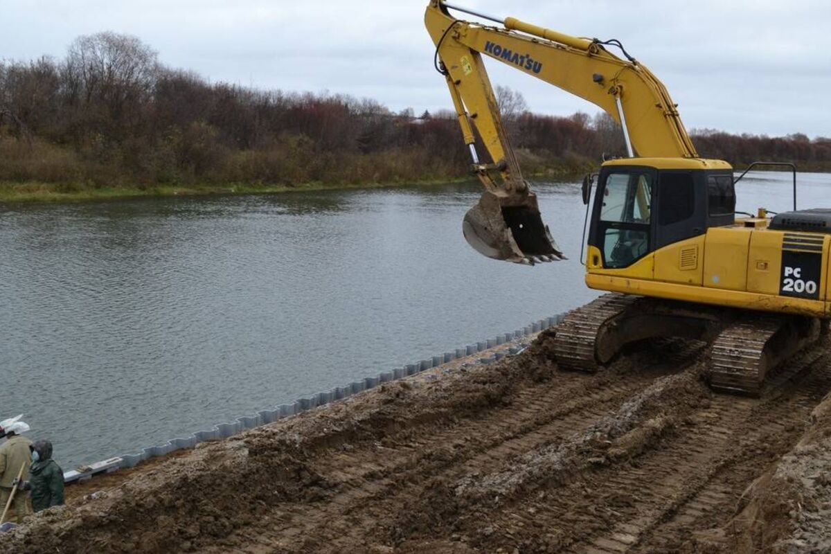
[[[495,543],[505,552],[681,552],[691,530],[726,522],[745,487],[799,439],[811,409],[831,389],[829,356],[810,366],[760,400],[713,396],[632,463],[590,469],[547,502],[520,497],[490,517],[489,536],[475,545]]]

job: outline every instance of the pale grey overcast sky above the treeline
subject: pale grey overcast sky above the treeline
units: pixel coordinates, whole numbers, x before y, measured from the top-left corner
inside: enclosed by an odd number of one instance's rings
[[[829,0],[455,0],[576,36],[617,38],[679,104],[688,129],[831,136]],[[451,2],[453,3],[453,2]],[[211,81],[450,109],[433,69],[426,0],[27,0],[2,6],[0,57],[61,58],[73,38],[129,33]],[[463,17],[463,14],[457,14]],[[490,61],[531,110],[597,108]]]

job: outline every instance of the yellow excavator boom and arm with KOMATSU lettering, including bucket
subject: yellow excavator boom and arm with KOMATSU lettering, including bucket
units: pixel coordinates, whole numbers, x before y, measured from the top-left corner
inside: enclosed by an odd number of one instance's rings
[[[456,19],[448,8],[484,17],[501,27]],[[626,59],[622,59],[606,49],[609,44],[620,47],[617,41],[570,37],[514,17],[490,17],[440,0],[432,0],[427,7],[425,25],[436,45],[436,68],[445,76],[475,173],[485,187],[463,224],[468,243],[485,256],[533,264],[560,259],[563,253],[522,178],[483,56],[601,107],[622,125],[630,157],[636,152],[653,158],[698,156],[661,81],[625,51]],[[473,128],[491,163],[479,161]]]

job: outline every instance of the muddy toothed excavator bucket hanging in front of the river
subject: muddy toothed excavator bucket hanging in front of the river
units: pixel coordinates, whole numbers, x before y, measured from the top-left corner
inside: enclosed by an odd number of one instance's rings
[[[534,265],[565,259],[539,214],[534,193],[485,191],[462,223],[465,240],[494,260]]]

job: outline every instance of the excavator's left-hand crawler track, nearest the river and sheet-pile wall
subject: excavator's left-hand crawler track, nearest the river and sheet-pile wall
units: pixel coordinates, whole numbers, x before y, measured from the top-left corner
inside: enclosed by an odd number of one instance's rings
[[[601,327],[619,316],[641,297],[612,292],[568,312],[557,328],[555,351],[563,370],[597,371],[607,360],[597,360],[596,340]]]

